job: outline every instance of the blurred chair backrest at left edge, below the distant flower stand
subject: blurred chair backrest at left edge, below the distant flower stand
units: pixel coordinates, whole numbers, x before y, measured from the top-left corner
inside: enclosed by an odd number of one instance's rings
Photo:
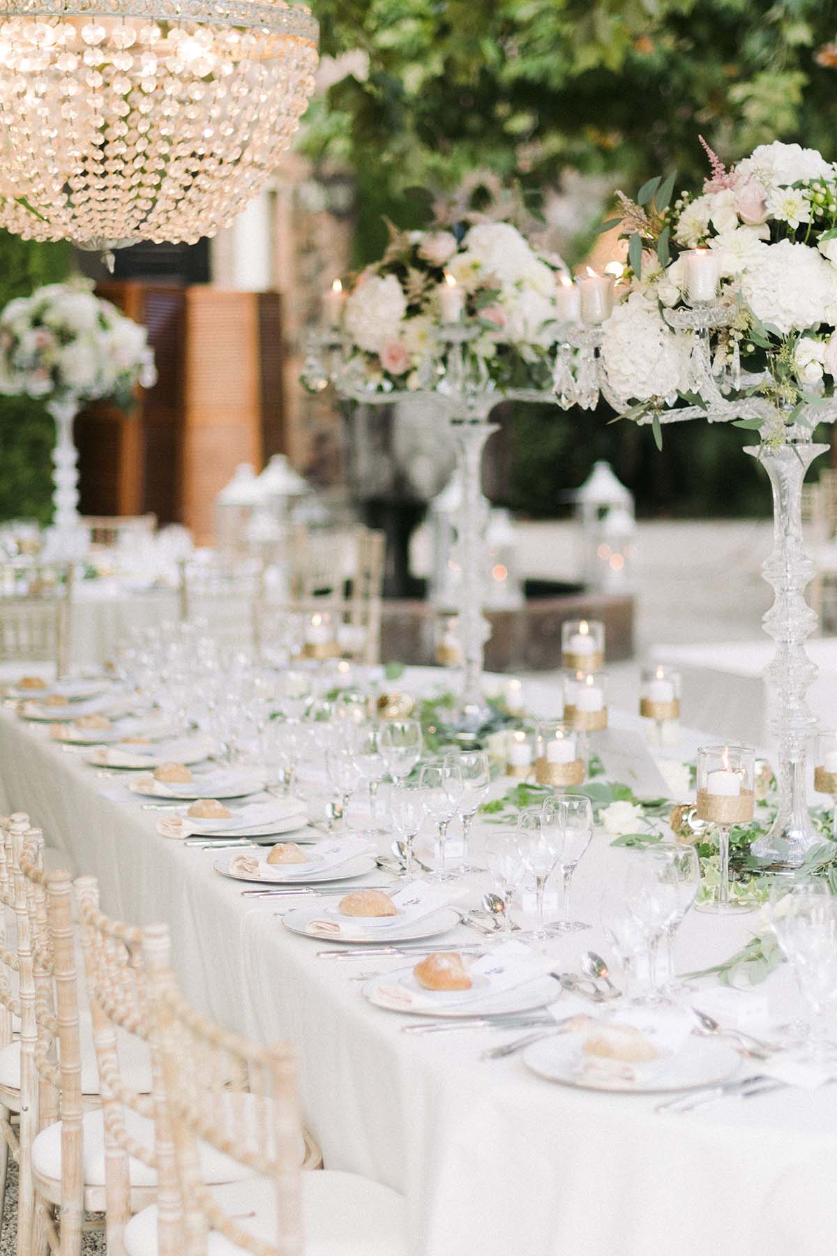
[[[0,563],[0,663],[70,659],[72,564]]]

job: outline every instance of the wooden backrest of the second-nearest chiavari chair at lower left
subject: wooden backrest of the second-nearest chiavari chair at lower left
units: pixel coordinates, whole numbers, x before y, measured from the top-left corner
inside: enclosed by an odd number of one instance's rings
[[[99,911],[99,887],[94,877],[75,882],[87,992],[93,1020],[93,1042],[99,1069],[99,1093],[105,1139],[105,1201],[108,1252],[120,1256],[123,1230],[131,1217],[129,1157],[157,1172],[163,1197],[174,1179],[172,1153],[161,1158],[167,1145],[166,1107],[161,1104],[162,1074],[152,1044],[152,1015],[148,981],[143,966],[142,931],[112,919]],[[152,1093],[141,1094],[120,1068],[117,1029],[152,1045]],[[153,1145],[139,1142],[128,1129],[128,1113],[156,1120]],[[161,1256],[176,1256],[177,1245],[163,1218],[159,1228]]]

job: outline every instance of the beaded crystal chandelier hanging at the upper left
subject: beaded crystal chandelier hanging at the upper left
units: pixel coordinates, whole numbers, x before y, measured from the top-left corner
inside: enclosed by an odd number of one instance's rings
[[[274,171],[317,24],[281,0],[0,0],[0,226],[195,244]]]

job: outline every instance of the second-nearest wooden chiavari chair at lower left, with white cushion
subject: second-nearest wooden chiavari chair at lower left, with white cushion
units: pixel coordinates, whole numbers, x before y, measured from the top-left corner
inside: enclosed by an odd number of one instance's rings
[[[133,1035],[151,1044],[154,1051],[148,981],[142,957],[142,932],[110,919],[99,911],[98,884],[93,877],[79,877],[75,883],[79,902],[82,948],[87,971],[88,997],[93,1014],[94,1042],[102,1079],[104,1114],[104,1176],[107,1202],[108,1256],[129,1251],[125,1225],[148,1201],[148,1188],[168,1198],[173,1189],[167,1172],[173,1176],[168,1145],[166,1108],[161,1107],[158,1065],[154,1064],[152,1088],[138,1091],[120,1068],[118,1034]],[[251,1109],[245,1099],[245,1117]],[[154,1118],[157,1130],[154,1130]],[[162,1148],[162,1154],[161,1154]],[[319,1148],[300,1139],[295,1147],[297,1168],[317,1168]],[[205,1179],[212,1183],[233,1182],[252,1176],[248,1166],[231,1161],[211,1145],[201,1148]],[[168,1194],[167,1194],[168,1192]],[[166,1212],[166,1210],[163,1210]],[[166,1230],[166,1226],[163,1226]],[[167,1235],[161,1251],[179,1256],[182,1247],[168,1245]],[[61,1253],[64,1256],[64,1253]]]

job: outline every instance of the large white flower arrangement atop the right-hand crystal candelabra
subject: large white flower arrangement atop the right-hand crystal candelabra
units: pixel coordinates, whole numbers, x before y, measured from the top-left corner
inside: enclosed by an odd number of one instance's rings
[[[837,167],[799,144],[762,144],[729,170],[701,139],[710,175],[700,195],[671,201],[674,176],[649,180],[636,200],[617,193],[627,269],[604,325],[601,355],[627,417],[648,418],[696,396],[696,337],[666,310],[695,304],[694,265],[728,304],[712,332],[712,374],[724,398],[765,399],[774,418],[742,418],[782,440],[809,426],[803,408],[834,394],[837,377]],[[695,254],[695,250],[699,250]],[[816,413],[816,409],[814,409]]]

